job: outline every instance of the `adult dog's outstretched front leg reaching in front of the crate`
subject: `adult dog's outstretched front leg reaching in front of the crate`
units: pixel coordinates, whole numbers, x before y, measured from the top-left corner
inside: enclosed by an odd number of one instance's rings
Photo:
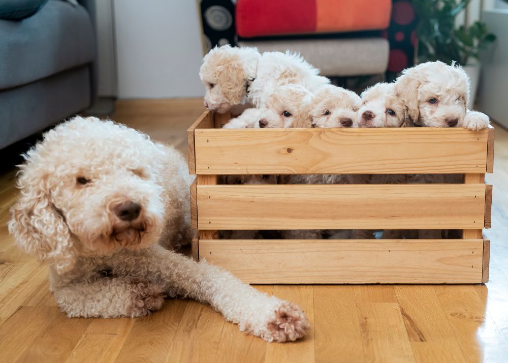
[[[310,328],[300,308],[289,301],[262,293],[242,283],[231,273],[202,260],[199,263],[162,248],[156,248],[152,261],[155,279],[171,285],[170,296],[192,297],[208,302],[240,330],[267,342],[294,341]]]

